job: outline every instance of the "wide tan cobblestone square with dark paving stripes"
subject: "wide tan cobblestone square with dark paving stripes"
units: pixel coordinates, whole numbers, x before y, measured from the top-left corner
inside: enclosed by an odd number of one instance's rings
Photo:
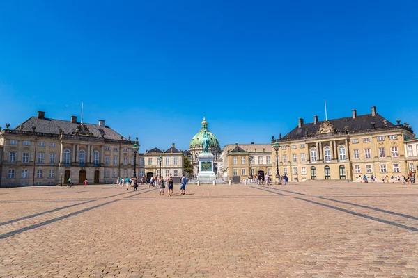
[[[418,185],[0,189],[0,277],[418,277]]]

